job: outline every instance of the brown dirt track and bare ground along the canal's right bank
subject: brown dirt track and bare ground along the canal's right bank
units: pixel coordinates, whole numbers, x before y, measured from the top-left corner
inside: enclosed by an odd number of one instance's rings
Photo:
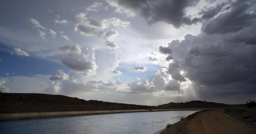
[[[224,109],[195,113],[164,130],[162,134],[256,134],[248,127],[224,113]]]

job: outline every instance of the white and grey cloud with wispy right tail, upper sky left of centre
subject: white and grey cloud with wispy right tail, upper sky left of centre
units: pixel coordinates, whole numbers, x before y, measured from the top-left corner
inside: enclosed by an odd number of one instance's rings
[[[119,18],[107,18],[97,21],[87,18],[84,13],[79,13],[75,17],[78,22],[74,30],[85,36],[99,37],[103,34],[103,30],[107,29],[110,25],[125,28],[130,24],[130,22],[122,21]]]

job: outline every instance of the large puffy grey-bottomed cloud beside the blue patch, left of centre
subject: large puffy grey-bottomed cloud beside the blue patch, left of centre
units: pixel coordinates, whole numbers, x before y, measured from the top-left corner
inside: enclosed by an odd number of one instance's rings
[[[84,75],[96,73],[95,54],[90,49],[84,49],[81,54],[69,53],[61,61],[66,67],[74,71],[83,72]]]

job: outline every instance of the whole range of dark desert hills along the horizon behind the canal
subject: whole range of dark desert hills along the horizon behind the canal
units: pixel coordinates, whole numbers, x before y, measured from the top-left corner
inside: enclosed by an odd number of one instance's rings
[[[83,100],[64,95],[39,93],[0,93],[0,113],[55,112],[87,110],[125,110],[125,109],[176,109],[176,108],[227,108],[242,107],[206,101],[168,103],[159,106],[113,103],[98,100]]]

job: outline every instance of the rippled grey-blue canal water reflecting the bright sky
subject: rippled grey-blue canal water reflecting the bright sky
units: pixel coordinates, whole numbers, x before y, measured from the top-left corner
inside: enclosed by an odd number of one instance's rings
[[[200,110],[0,121],[0,134],[153,134]]]

